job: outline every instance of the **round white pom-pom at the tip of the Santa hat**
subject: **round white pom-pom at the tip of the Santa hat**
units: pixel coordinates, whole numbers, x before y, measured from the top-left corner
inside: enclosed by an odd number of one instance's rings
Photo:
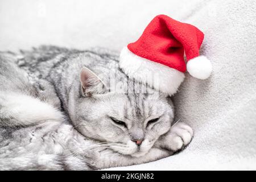
[[[188,61],[187,70],[195,78],[204,80],[212,73],[212,64],[205,56],[198,56]]]

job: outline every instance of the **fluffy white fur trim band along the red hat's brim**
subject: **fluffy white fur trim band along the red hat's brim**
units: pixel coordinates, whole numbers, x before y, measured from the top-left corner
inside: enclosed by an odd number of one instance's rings
[[[154,86],[170,96],[177,92],[185,77],[184,73],[174,68],[135,55],[127,47],[120,53],[119,67],[129,78]]]

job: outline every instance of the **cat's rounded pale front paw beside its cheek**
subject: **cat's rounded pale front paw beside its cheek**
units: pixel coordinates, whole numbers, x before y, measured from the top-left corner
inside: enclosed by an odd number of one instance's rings
[[[179,122],[172,126],[164,137],[163,147],[174,152],[179,151],[191,142],[192,137],[192,128],[183,122]]]

